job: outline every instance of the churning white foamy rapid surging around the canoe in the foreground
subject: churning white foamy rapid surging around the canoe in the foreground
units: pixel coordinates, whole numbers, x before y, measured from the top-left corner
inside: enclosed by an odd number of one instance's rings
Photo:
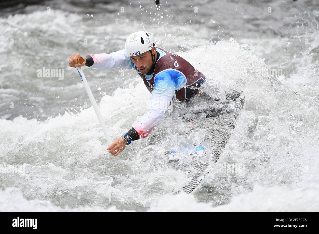
[[[188,178],[165,166],[163,145],[149,145],[145,138],[116,158],[109,155],[89,107],[45,121],[0,119],[0,162],[26,163],[25,174],[0,174],[0,210],[318,211],[316,103],[277,78],[261,77],[260,70],[268,69],[263,59],[232,38],[177,54],[205,74],[207,92],[223,97],[235,89],[245,95],[229,142],[210,168],[214,176],[195,197],[171,194]],[[99,106],[112,139],[143,115],[149,96],[136,77],[102,97]],[[177,137],[176,127],[190,129],[165,116],[154,134],[165,130]],[[244,165],[245,173],[214,173],[225,162]]]

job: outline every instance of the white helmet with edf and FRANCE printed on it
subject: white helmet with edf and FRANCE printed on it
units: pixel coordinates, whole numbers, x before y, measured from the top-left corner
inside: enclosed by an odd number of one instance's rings
[[[144,31],[138,31],[133,32],[126,39],[125,50],[131,57],[152,50],[153,45],[154,39],[151,34]]]

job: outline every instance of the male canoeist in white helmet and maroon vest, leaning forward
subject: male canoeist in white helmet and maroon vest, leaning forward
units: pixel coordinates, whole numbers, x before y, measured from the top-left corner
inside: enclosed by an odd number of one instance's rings
[[[114,156],[122,152],[131,141],[147,137],[160,123],[170,102],[188,101],[192,96],[200,95],[198,89],[205,76],[189,62],[165,49],[155,47],[153,37],[144,31],[134,32],[126,39],[125,49],[110,54],[89,54],[83,63],[77,63],[81,57],[72,54],[70,67],[88,66],[104,70],[106,68],[134,68],[141,76],[147,89],[152,93],[149,108],[132,129],[114,140],[107,150]]]

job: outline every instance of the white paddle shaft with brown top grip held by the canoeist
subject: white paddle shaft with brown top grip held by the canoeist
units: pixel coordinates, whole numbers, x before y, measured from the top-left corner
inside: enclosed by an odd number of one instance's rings
[[[84,62],[84,59],[83,59],[82,57],[79,57],[79,58],[77,59],[77,63],[83,63],[83,62]],[[100,125],[101,125],[101,127],[102,127],[102,129],[103,129],[103,132],[104,132],[105,138],[106,138],[106,140],[107,140],[107,142],[108,142],[108,145],[111,145],[111,144],[112,144],[112,139],[111,139],[110,135],[108,134],[108,130],[106,129],[106,126],[105,126],[103,117],[102,117],[102,115],[101,115],[100,109],[99,109],[98,105],[97,105],[96,102],[95,102],[93,93],[92,93],[92,91],[91,91],[91,89],[90,89],[89,84],[87,83],[87,81],[86,81],[86,79],[85,79],[85,75],[84,75],[84,73],[83,73],[83,71],[82,71],[82,68],[81,68],[81,67],[77,67],[77,69],[78,69],[78,73],[79,73],[79,75],[80,75],[80,77],[81,77],[81,80],[82,80],[82,82],[83,82],[83,84],[84,84],[84,88],[85,88],[85,90],[86,90],[86,92],[87,92],[87,95],[89,96],[90,101],[91,101],[91,103],[92,103],[92,106],[93,106],[93,108],[94,108],[94,110],[95,110],[96,116],[97,116],[98,119],[99,119]]]

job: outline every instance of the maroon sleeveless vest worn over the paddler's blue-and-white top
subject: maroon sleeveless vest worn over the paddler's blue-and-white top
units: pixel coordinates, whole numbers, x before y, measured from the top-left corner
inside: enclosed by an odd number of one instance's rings
[[[154,89],[154,77],[156,76],[156,74],[163,70],[174,69],[184,74],[187,85],[186,88],[183,87],[176,90],[175,97],[179,101],[187,101],[192,96],[198,94],[199,90],[196,88],[199,88],[201,83],[205,81],[205,76],[201,72],[197,71],[188,61],[178,56],[177,54],[171,53],[165,49],[158,49],[164,51],[166,54],[157,60],[153,76],[150,80],[146,80],[145,75],[141,74],[137,67],[134,66],[137,73],[142,77],[146,88],[152,93]]]

